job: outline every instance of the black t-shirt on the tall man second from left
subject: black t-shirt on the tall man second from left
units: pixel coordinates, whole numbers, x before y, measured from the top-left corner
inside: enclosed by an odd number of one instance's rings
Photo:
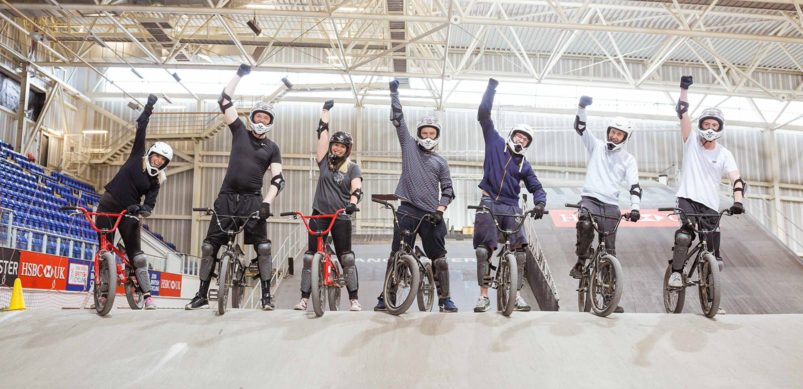
[[[243,120],[229,124],[231,130],[231,153],[229,168],[221,193],[261,194],[265,172],[271,164],[281,164],[279,145],[267,138],[257,139],[247,130]]]

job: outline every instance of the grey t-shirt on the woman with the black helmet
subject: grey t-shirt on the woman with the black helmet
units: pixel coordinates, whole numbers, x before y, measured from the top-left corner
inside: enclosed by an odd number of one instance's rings
[[[318,188],[315,190],[315,200],[312,201],[312,209],[323,215],[336,213],[338,209],[346,208],[351,198],[351,181],[357,177],[362,178],[360,166],[349,163],[349,170],[345,173],[340,170],[329,168],[329,156],[324,156],[318,163],[320,176],[318,177]],[[348,220],[349,216],[340,213],[337,217],[341,220]]]

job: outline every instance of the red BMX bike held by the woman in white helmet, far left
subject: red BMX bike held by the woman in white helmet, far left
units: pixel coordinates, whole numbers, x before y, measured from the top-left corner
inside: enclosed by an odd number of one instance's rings
[[[121,213],[89,212],[84,207],[67,205],[59,209],[63,211],[75,211],[71,215],[83,213],[92,229],[94,229],[96,233],[100,233],[100,247],[97,253],[95,253],[94,279],[95,310],[97,310],[97,313],[100,314],[100,316],[105,316],[112,310],[118,283],[124,285],[128,306],[130,306],[132,310],[141,310],[142,307],[145,306],[145,298],[142,298],[142,289],[140,288],[139,282],[137,282],[134,268],[131,263],[128,262],[128,257],[125,255],[124,251],[117,249],[112,245],[112,242],[106,239],[107,233],[113,233],[117,230],[117,225],[120,224],[120,220],[123,217],[132,216],[126,215],[127,211],[125,209]],[[93,216],[116,217],[117,221],[115,221],[114,227],[111,229],[98,229],[95,225],[95,221],[92,221]],[[139,221],[139,217],[133,218]],[[117,264],[115,254],[117,257],[123,259],[122,267]]]

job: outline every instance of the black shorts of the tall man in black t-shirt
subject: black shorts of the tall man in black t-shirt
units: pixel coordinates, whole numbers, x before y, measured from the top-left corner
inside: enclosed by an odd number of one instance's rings
[[[218,199],[214,201],[214,212],[218,213],[218,215],[247,217],[251,213],[259,211],[261,205],[262,196],[259,195],[220,193],[218,194]],[[267,241],[266,221],[259,219],[245,221],[243,219],[220,217],[220,226],[226,230],[239,229],[243,222],[246,223],[246,228],[243,229],[243,233],[245,233],[244,243],[246,245],[257,245]],[[208,241],[213,245],[226,245],[229,242],[229,236],[222,231],[221,227],[218,227],[217,219],[212,217],[204,241]]]

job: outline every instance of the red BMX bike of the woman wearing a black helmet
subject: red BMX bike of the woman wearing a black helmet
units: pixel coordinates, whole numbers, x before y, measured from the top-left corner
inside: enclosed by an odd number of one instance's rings
[[[359,209],[358,209],[359,210]],[[310,298],[312,299],[312,309],[315,310],[317,316],[324,315],[325,299],[324,294],[327,294],[329,300],[329,310],[340,310],[340,288],[346,284],[346,276],[343,274],[343,268],[340,266],[340,261],[336,258],[332,259],[332,246],[328,243],[324,244],[324,235],[332,230],[332,225],[335,225],[337,216],[343,213],[345,209],[338,209],[332,215],[314,215],[304,216],[300,212],[283,212],[280,216],[291,216],[293,219],[301,218],[304,225],[307,227],[308,233],[318,237],[318,251],[312,257],[312,286]],[[319,231],[312,231],[309,228],[309,219],[320,219],[331,217],[332,221],[326,230],[320,231],[320,224],[318,225]]]

